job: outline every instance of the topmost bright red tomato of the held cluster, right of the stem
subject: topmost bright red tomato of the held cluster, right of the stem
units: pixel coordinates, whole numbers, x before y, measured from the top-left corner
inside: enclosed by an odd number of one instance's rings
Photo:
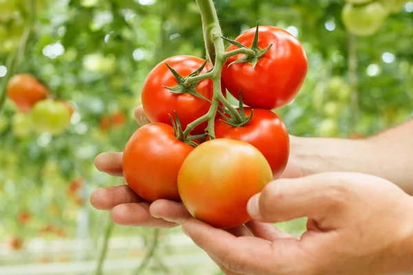
[[[251,47],[255,28],[247,30],[235,41]],[[275,109],[283,107],[295,98],[304,83],[308,71],[308,60],[299,41],[286,30],[273,26],[262,26],[259,30],[258,47],[271,48],[260,58],[253,69],[251,63],[229,64],[243,58],[239,54],[229,58],[222,68],[222,79],[226,89],[250,107]],[[227,52],[236,50],[231,45]]]

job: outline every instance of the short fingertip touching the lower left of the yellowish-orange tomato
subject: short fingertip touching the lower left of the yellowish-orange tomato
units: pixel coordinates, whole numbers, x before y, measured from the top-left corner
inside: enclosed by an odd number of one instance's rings
[[[191,214],[189,214],[182,202],[168,201],[166,199],[153,201],[149,211],[153,217],[178,224],[184,223],[184,221],[191,217]]]

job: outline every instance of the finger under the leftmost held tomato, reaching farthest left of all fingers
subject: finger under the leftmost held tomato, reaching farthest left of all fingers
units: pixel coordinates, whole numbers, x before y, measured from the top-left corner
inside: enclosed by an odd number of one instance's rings
[[[98,188],[90,195],[90,203],[98,210],[111,210],[119,204],[143,201],[127,185]]]

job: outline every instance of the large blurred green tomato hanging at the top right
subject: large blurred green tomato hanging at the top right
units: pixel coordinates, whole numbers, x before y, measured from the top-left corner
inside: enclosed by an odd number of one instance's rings
[[[370,36],[376,33],[387,15],[379,2],[366,5],[347,3],[341,11],[341,19],[348,32],[357,36]]]

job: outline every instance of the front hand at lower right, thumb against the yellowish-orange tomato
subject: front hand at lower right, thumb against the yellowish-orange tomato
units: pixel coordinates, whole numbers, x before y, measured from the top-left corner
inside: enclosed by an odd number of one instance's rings
[[[182,229],[225,274],[413,273],[413,199],[385,179],[278,179],[250,199],[248,212],[271,223],[308,217],[307,231],[301,239],[269,228],[240,236],[192,218]]]

